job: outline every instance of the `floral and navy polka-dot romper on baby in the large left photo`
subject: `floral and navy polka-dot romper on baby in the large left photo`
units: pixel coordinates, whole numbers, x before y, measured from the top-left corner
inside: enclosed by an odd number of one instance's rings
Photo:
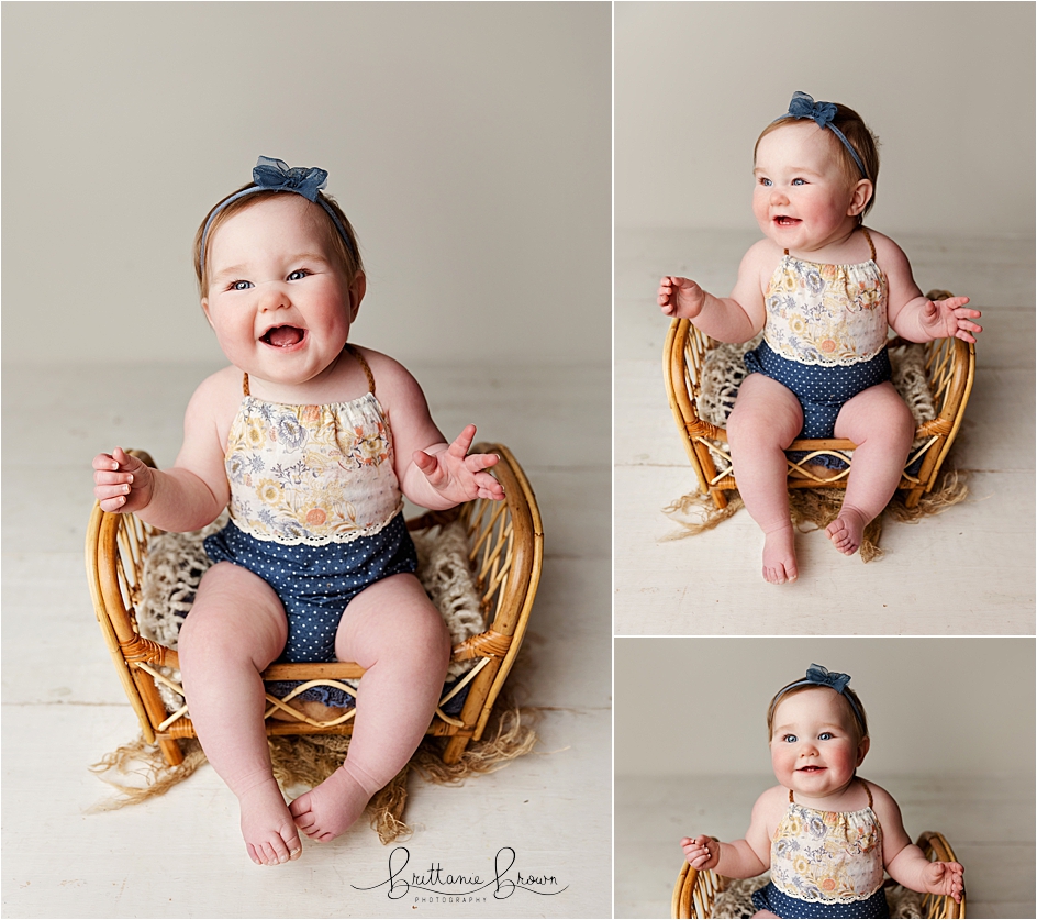
[[[248,392],[231,425],[226,474],[231,520],[207,537],[216,562],[254,572],[288,617],[288,662],[335,661],[346,605],[375,581],[414,572],[417,558],[403,520],[392,466],[392,435],[375,396],[291,406]]]

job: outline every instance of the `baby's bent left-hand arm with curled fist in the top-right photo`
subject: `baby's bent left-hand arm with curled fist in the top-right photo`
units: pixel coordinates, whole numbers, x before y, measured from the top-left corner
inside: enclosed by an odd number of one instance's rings
[[[748,342],[763,328],[760,273],[765,252],[757,243],[745,254],[731,297],[714,297],[690,278],[667,275],[659,281],[659,307],[667,317],[691,320],[718,342]]]

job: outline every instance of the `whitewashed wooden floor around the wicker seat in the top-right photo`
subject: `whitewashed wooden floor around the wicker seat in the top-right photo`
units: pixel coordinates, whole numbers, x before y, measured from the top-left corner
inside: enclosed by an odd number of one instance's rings
[[[895,235],[895,234],[894,234]],[[758,233],[615,234],[615,566],[617,635],[1034,633],[1034,240],[903,236],[923,290],[968,295],[983,311],[977,379],[950,462],[968,502],[917,524],[887,523],[868,565],[815,532],[800,578],[760,578],[762,537],[744,510],[715,530],[678,530],[661,509],[696,489],[667,406],[664,274],[726,295]]]

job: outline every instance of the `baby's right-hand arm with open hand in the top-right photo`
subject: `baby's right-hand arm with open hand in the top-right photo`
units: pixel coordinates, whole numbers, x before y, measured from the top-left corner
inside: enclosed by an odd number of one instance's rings
[[[873,239],[879,265],[890,282],[889,322],[894,332],[908,342],[955,337],[975,342],[983,328],[972,320],[982,313],[966,309],[969,298],[929,300],[915,284],[903,250],[882,234],[873,233]]]

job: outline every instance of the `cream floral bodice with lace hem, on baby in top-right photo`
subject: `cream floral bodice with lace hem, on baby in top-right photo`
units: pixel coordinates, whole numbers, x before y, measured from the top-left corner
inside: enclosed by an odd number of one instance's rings
[[[800,364],[850,366],[873,358],[889,335],[889,281],[871,258],[825,265],[784,255],[767,286],[763,341]]]

